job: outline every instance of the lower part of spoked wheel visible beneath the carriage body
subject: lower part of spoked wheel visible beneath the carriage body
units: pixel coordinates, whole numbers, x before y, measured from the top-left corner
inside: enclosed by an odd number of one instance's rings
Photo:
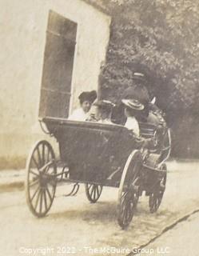
[[[86,189],[86,197],[89,199],[90,202],[97,202],[101,196],[102,186],[95,185],[95,184],[85,184]]]

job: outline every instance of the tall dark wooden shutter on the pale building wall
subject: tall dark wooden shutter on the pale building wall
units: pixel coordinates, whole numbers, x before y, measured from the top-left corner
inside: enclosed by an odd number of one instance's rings
[[[39,117],[67,118],[77,23],[50,11],[46,31]]]

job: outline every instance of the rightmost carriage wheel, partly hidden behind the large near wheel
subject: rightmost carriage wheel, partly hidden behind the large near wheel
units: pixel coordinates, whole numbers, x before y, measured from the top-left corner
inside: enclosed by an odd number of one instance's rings
[[[149,210],[153,214],[157,211],[161,205],[161,200],[163,194],[165,193],[165,184],[166,184],[166,165],[163,163],[161,165],[161,170],[165,170],[165,173],[162,175],[161,181],[157,187],[157,190],[149,195]]]

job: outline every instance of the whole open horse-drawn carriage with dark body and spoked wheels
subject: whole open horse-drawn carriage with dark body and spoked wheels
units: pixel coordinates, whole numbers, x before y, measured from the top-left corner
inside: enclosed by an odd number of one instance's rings
[[[118,188],[117,221],[121,228],[129,226],[142,191],[149,195],[151,212],[160,206],[166,183],[164,161],[170,149],[166,126],[161,130],[140,124],[142,136],[153,137],[155,142],[145,154],[124,126],[50,117],[41,122],[57,139],[60,158],[55,158],[46,140],[37,142],[30,152],[26,201],[35,216],[43,217],[50,210],[58,182],[73,182],[71,195],[78,192],[80,183],[85,184],[86,196],[93,203],[100,198],[102,187]]]

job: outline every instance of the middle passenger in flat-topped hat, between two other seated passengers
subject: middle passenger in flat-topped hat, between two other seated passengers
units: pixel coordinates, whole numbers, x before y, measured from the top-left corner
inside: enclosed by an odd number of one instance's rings
[[[94,106],[97,106],[95,115],[97,122],[113,124],[113,122],[111,122],[111,114],[114,106],[112,102],[101,100],[95,102]]]

